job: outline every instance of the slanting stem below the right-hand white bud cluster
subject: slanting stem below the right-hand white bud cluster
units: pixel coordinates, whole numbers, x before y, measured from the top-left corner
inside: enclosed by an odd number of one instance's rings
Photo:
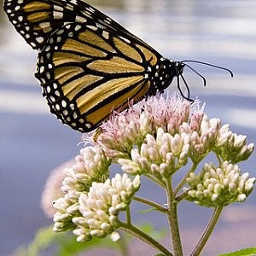
[[[212,230],[214,229],[215,225],[218,222],[218,218],[219,218],[220,213],[222,212],[222,210],[223,210],[223,207],[215,208],[215,210],[212,214],[212,218],[210,219],[209,223],[207,224],[206,230],[203,232],[200,241],[198,242],[198,244],[196,245],[194,251],[190,254],[190,256],[200,255],[203,247],[205,247],[209,237],[212,234]]]

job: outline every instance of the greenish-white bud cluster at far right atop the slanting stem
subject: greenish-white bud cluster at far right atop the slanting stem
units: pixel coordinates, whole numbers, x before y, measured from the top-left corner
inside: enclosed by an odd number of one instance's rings
[[[253,190],[255,177],[241,174],[238,166],[228,161],[216,167],[205,164],[199,175],[190,173],[187,178],[187,199],[205,207],[224,207],[235,201],[245,201]]]

